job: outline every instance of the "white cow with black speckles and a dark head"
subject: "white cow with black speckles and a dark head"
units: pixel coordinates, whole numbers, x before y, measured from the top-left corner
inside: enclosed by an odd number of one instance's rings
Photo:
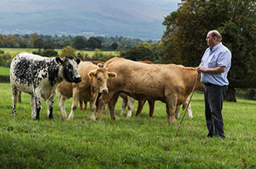
[[[56,88],[65,82],[81,82],[77,66],[80,59],[73,57],[45,58],[36,54],[17,54],[12,59],[10,82],[12,87],[12,115],[16,115],[17,90],[31,95],[31,117],[40,118],[41,99],[46,101],[48,115],[53,119],[52,110]],[[36,101],[36,113],[35,113]]]

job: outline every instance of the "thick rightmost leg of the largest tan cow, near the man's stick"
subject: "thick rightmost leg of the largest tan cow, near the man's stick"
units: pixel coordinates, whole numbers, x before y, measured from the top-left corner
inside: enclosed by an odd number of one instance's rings
[[[167,98],[167,123],[176,124],[176,102],[177,97],[175,95],[166,95]]]

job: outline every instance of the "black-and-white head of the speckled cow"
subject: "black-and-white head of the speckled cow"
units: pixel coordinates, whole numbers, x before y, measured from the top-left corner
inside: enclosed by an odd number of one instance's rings
[[[74,59],[72,56],[67,56],[64,59],[56,58],[56,62],[63,68],[63,77],[65,82],[81,82],[82,78],[77,71],[77,66],[80,59]]]

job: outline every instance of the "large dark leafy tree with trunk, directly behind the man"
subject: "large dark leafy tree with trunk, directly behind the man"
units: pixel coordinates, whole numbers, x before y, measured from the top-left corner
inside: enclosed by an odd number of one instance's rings
[[[236,101],[235,87],[256,87],[255,3],[253,0],[182,1],[165,17],[163,41],[165,63],[196,67],[205,49],[205,35],[218,30],[232,53],[226,100]]]

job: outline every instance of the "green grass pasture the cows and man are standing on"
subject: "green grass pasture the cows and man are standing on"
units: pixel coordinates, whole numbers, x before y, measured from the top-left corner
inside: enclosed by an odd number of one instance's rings
[[[256,101],[224,102],[226,139],[207,138],[204,96],[192,99],[193,120],[167,124],[165,104],[156,102],[155,115],[89,120],[89,111],[75,110],[74,120],[62,120],[54,106],[49,120],[43,101],[41,120],[31,120],[29,95],[22,94],[12,116],[10,84],[0,85],[0,168],[253,168],[256,165]],[[70,112],[71,99],[65,107]],[[183,111],[181,112],[183,115]]]

